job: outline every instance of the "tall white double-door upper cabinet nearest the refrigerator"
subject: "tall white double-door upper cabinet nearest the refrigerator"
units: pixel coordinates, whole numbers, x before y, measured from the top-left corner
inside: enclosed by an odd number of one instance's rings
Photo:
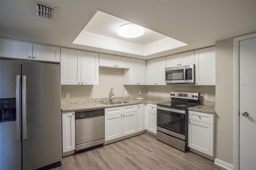
[[[62,85],[98,85],[99,53],[61,48]]]

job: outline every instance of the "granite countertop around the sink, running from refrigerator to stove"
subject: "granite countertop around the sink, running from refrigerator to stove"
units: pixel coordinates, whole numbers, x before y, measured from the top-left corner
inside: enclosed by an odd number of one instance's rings
[[[114,105],[105,105],[102,103],[105,102],[84,102],[84,103],[65,103],[61,106],[62,112],[71,112],[71,111],[82,111],[88,109],[99,109],[99,108],[108,108],[108,107],[118,107],[118,106],[126,106],[126,105],[138,105],[142,103],[149,103],[156,105],[157,103],[164,103],[167,102],[166,100],[161,99],[129,99],[124,100],[129,103],[122,103],[122,104],[114,104]],[[116,102],[116,101],[113,101]]]

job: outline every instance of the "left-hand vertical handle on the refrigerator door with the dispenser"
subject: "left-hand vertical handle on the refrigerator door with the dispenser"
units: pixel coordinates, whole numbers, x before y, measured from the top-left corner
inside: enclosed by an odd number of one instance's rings
[[[16,75],[16,136],[20,140],[20,75]]]

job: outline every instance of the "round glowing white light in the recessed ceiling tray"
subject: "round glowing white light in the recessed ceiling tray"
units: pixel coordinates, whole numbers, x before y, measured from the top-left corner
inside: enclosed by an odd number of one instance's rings
[[[145,29],[142,26],[136,24],[124,24],[117,30],[117,34],[124,38],[136,38],[140,37],[145,33]]]

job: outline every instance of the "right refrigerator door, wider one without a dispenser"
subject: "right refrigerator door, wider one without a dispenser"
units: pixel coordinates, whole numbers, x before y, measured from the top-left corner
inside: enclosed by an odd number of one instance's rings
[[[22,62],[26,76],[26,138],[22,168],[37,169],[62,159],[60,65]],[[23,90],[22,90],[23,91]],[[24,97],[22,97],[24,98]],[[22,125],[23,126],[23,125]]]

